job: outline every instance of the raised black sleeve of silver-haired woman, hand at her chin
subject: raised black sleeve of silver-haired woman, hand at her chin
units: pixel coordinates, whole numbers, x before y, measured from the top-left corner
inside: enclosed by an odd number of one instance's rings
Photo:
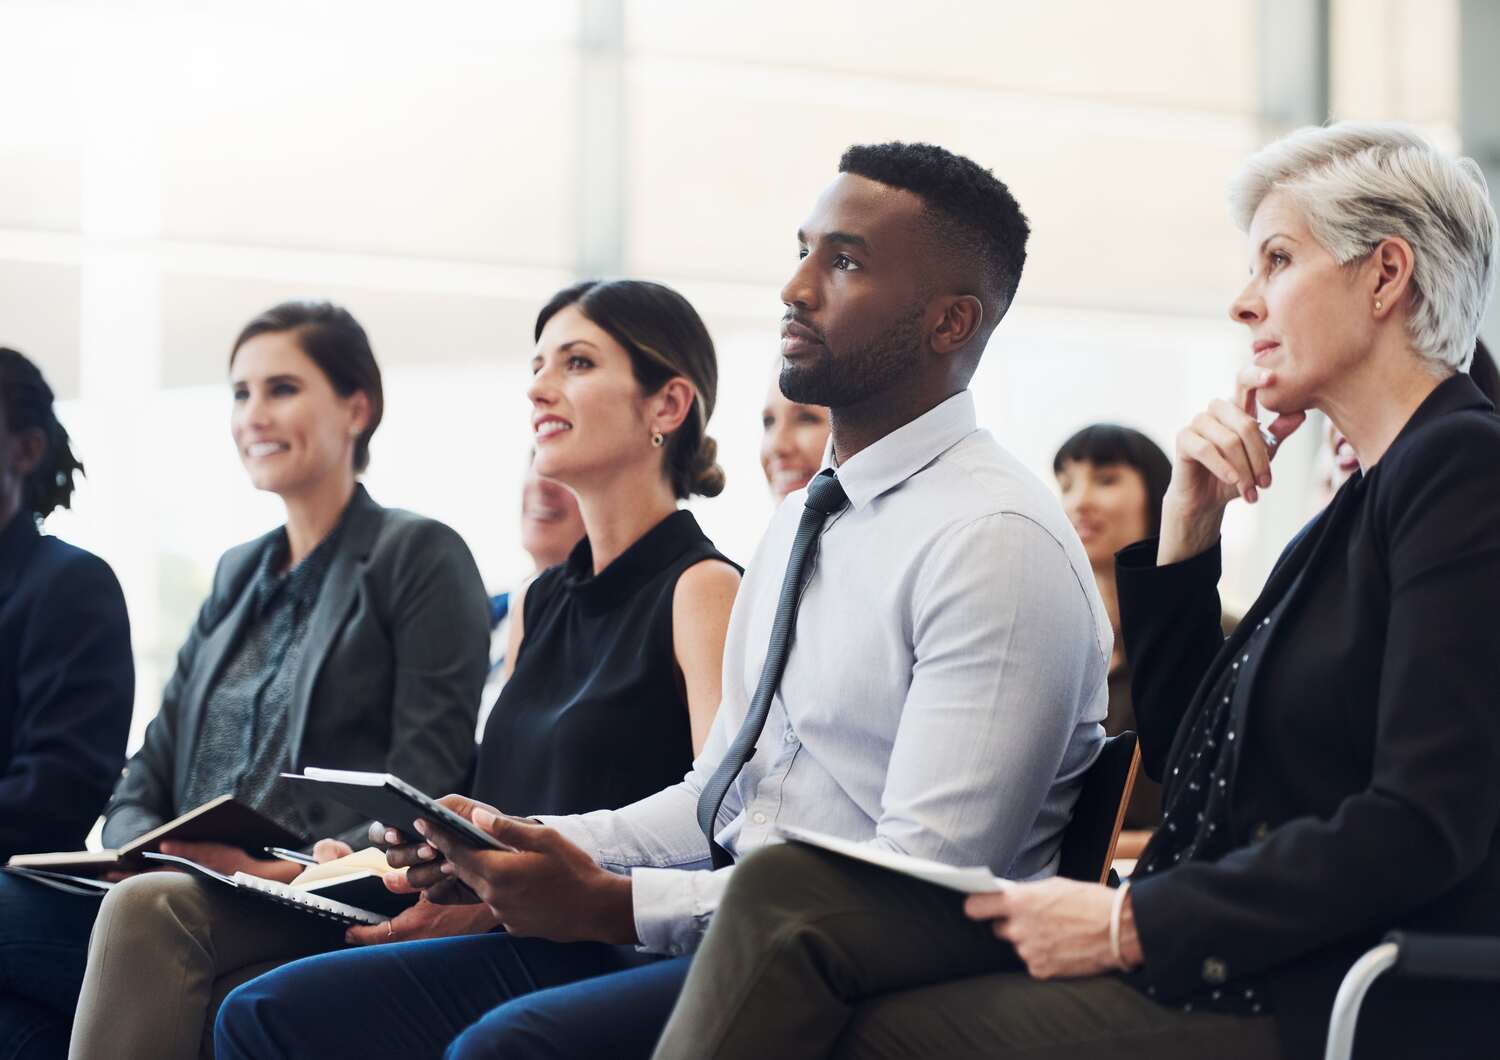
[[[1158,567],[1156,538],[1138,541],[1114,556],[1140,762],[1146,775],[1158,783],[1192,694],[1224,646],[1218,598],[1221,564],[1215,543],[1191,559]]]

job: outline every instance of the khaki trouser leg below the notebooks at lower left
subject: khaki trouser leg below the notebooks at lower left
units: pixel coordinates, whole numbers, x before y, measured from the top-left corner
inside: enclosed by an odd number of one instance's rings
[[[69,1056],[212,1057],[213,1018],[231,990],[340,946],[339,924],[186,873],[130,877],[99,909]]]

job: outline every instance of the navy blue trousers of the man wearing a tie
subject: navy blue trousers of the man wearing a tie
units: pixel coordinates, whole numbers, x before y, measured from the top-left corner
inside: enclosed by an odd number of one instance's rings
[[[231,993],[214,1056],[645,1059],[688,961],[504,933],[321,954]]]

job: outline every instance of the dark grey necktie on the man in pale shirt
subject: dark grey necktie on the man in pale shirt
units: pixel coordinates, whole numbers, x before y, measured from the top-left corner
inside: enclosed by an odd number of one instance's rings
[[[724,753],[718,769],[708,778],[704,793],[698,796],[698,826],[708,837],[708,853],[714,859],[714,868],[724,868],[734,862],[729,852],[714,840],[714,834],[718,831],[718,807],[723,805],[724,795],[735,783],[735,777],[754,754],[754,742],[760,739],[766,715],[771,714],[771,699],[776,696],[777,685],[782,684],[786,652],[792,643],[792,627],[796,625],[796,604],[807,561],[818,549],[818,535],[824,529],[824,522],[843,508],[848,501],[849,498],[831,468],[807,483],[802,522],[796,525],[792,555],[786,561],[786,574],[782,577],[782,598],[776,604],[776,621],[771,624],[771,643],[766,646],[765,664],[760,667],[760,682],[756,685],[754,699],[750,700],[750,709],[746,712],[746,720],[740,726],[734,744]]]

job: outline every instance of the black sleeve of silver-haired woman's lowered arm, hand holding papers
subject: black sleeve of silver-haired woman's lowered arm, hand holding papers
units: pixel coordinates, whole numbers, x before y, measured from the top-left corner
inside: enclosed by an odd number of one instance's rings
[[[1464,435],[1455,421],[1424,438],[1425,459],[1386,468],[1374,513],[1390,607],[1384,655],[1370,661],[1380,667],[1370,787],[1329,819],[1287,822],[1218,862],[1136,885],[1160,996],[1198,987],[1210,946],[1232,976],[1257,975],[1396,927],[1490,855],[1500,826],[1500,442],[1492,427]]]

